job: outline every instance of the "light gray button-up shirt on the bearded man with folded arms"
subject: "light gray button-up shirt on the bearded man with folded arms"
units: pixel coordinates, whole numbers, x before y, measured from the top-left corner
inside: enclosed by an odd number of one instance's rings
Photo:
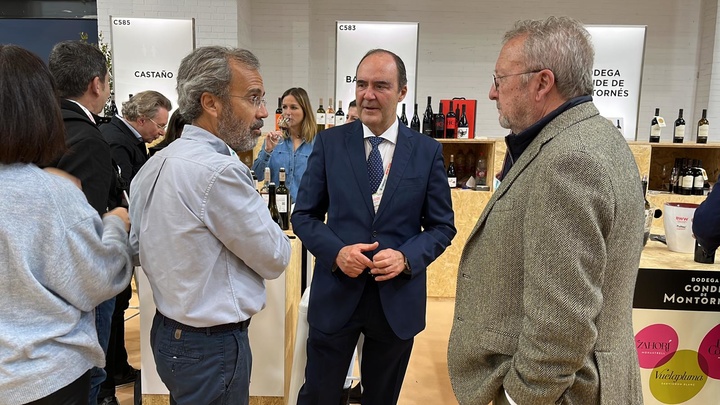
[[[228,149],[187,125],[130,188],[131,239],[157,309],[194,327],[250,318],[265,306],[264,280],[290,261],[289,239]]]

